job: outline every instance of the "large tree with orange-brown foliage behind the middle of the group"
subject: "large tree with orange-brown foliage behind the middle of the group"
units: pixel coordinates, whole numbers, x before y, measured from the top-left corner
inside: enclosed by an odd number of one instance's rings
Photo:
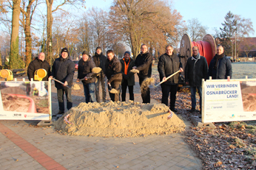
[[[160,48],[175,43],[181,18],[165,1],[115,0],[110,7],[110,32],[122,38],[136,57],[142,43]]]

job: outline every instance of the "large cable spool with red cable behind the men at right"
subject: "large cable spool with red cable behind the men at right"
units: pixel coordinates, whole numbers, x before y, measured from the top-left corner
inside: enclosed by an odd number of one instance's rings
[[[183,67],[186,65],[186,60],[192,56],[193,46],[198,46],[199,53],[201,56],[206,57],[207,63],[209,65],[212,58],[216,54],[215,38],[213,38],[212,35],[207,34],[203,37],[203,40],[191,42],[189,35],[184,34],[181,38],[180,46],[180,55],[181,57],[184,57],[183,61],[181,60]]]

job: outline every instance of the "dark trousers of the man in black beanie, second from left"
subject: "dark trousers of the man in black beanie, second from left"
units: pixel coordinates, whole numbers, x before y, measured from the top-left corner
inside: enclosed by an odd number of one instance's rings
[[[72,96],[71,96],[71,88],[57,89],[58,96],[58,108],[61,112],[64,112],[64,93],[66,94],[67,99],[67,110],[70,110],[73,106]]]

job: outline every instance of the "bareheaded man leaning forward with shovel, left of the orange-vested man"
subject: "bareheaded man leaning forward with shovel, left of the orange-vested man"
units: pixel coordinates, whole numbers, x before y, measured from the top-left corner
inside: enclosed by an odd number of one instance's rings
[[[110,99],[120,101],[120,89],[122,82],[122,66],[112,50],[107,51],[106,76],[109,87],[114,88],[117,93],[110,93]],[[109,89],[110,90],[110,89]]]

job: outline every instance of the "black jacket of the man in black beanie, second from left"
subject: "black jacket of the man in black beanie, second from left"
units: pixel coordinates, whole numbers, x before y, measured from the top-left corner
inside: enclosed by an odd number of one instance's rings
[[[75,63],[66,58],[58,57],[55,59],[52,68],[52,76],[61,82],[67,81],[68,85],[71,87],[73,84],[73,77],[75,74]],[[64,89],[64,85],[55,81],[55,87],[57,89]]]

